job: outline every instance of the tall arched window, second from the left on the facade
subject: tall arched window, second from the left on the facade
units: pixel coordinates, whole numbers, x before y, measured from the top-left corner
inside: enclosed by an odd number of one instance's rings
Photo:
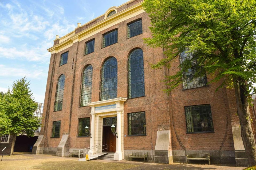
[[[92,65],[87,66],[83,72],[82,90],[81,90],[81,104],[80,106],[87,106],[91,102],[92,96]]]

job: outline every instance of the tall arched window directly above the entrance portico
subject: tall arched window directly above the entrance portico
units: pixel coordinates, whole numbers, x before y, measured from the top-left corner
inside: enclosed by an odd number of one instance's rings
[[[117,60],[110,57],[101,69],[101,99],[115,99],[117,96]]]

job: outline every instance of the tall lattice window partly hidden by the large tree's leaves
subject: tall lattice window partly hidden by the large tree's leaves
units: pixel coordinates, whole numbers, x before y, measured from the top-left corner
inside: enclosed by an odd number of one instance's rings
[[[207,85],[207,78],[206,74],[203,77],[196,77],[195,73],[200,66],[198,65],[196,59],[192,59],[193,54],[184,51],[180,54],[180,63],[184,62],[185,60],[191,60],[192,67],[188,69],[187,72],[183,73],[183,89],[190,89],[196,87],[202,87]]]

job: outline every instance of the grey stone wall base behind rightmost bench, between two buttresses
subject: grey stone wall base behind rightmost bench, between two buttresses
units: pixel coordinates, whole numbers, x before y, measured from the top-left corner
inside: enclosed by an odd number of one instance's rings
[[[209,153],[210,154],[210,159],[211,163],[216,163],[216,164],[236,164],[235,160],[235,151],[172,151],[173,155],[173,161],[174,162],[186,162],[186,155],[187,153]],[[190,160],[189,162],[191,163],[196,163],[198,162],[197,160]],[[208,162],[206,162],[208,163]]]

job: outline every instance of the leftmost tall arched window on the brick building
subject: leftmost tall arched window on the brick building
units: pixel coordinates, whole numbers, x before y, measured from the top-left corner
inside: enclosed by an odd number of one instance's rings
[[[61,111],[62,110],[62,99],[63,99],[63,92],[64,92],[64,84],[65,84],[65,75],[62,74],[58,79],[57,83],[57,91],[54,103],[54,111]]]

